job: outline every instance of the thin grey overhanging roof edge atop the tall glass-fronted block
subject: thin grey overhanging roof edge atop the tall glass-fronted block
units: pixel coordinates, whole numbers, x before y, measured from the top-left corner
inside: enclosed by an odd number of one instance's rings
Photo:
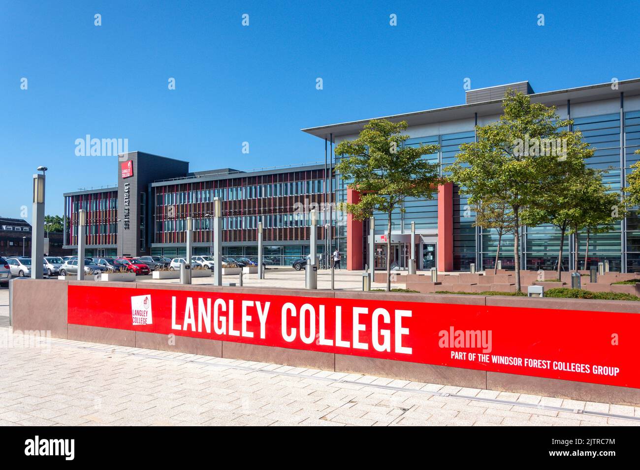
[[[521,83],[521,82],[518,82],[518,83]],[[531,95],[529,96],[534,100],[538,101],[539,98],[546,98],[553,95],[561,95],[563,93],[580,93],[580,92],[586,92],[591,90],[604,89],[605,87],[610,87],[611,83],[612,82],[604,82],[604,83],[598,83],[598,84],[592,84],[592,85],[586,85],[586,86],[579,86],[575,88],[566,88],[564,90],[541,91],[540,93],[531,93]],[[634,85],[634,84],[639,85],[637,87],[637,92],[640,93],[640,78],[618,81],[619,87],[623,87],[625,85]],[[474,90],[470,90],[470,91],[474,91]],[[619,95],[620,92],[624,90],[611,90],[611,91],[615,91],[614,95]],[[358,125],[364,125],[374,119],[402,120],[403,118],[412,118],[420,115],[442,113],[447,111],[456,111],[458,109],[472,110],[474,107],[476,109],[482,109],[484,107],[486,107],[487,109],[491,109],[492,107],[495,107],[495,105],[500,105],[501,103],[502,103],[502,98],[497,100],[481,101],[481,102],[470,103],[470,104],[459,104],[455,106],[446,106],[446,107],[440,107],[440,108],[434,108],[434,109],[424,109],[422,111],[412,111],[410,113],[390,114],[388,116],[378,116],[378,117],[360,119],[355,121],[344,121],[340,123],[321,125],[317,127],[305,127],[304,129],[300,129],[300,130],[302,132],[307,132],[307,134],[311,134],[312,136],[324,138],[326,134],[328,134],[330,129],[339,129],[340,127],[347,127],[347,126],[357,127]],[[486,114],[492,114],[492,113],[489,112]],[[486,114],[483,114],[483,115],[486,115]],[[323,132],[323,131],[326,131],[326,132]],[[342,135],[349,135],[349,133],[337,134],[337,136],[342,136]]]

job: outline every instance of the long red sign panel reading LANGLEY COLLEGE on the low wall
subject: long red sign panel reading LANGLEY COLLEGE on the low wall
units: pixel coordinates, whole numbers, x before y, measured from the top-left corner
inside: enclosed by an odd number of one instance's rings
[[[640,388],[640,315],[68,287],[68,323]]]

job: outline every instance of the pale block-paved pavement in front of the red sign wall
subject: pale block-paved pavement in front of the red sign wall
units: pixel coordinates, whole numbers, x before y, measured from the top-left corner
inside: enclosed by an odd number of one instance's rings
[[[0,288],[0,425],[637,426],[640,407],[56,338],[38,343],[11,331],[8,290]]]

